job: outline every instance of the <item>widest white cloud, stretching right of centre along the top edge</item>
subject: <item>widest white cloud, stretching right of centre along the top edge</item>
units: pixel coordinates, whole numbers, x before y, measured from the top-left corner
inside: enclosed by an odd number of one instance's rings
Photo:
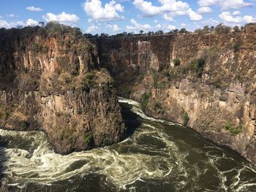
[[[158,0],[160,6],[154,6],[151,1],[134,0],[132,4],[135,5],[144,16],[162,15],[165,20],[174,21],[173,17],[176,15],[189,15],[192,20],[202,19],[200,15],[189,8],[189,4],[183,1],[176,0]]]

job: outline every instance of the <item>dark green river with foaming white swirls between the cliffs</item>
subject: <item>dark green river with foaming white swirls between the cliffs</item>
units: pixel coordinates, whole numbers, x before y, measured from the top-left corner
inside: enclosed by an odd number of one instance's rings
[[[129,137],[59,155],[40,131],[0,131],[3,183],[20,191],[256,191],[256,169],[189,128],[119,99]]]

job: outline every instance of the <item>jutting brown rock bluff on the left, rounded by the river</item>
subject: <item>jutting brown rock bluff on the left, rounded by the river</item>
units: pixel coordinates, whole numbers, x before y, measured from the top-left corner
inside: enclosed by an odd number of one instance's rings
[[[0,31],[0,127],[42,130],[59,153],[110,145],[125,128],[97,51],[65,26]]]

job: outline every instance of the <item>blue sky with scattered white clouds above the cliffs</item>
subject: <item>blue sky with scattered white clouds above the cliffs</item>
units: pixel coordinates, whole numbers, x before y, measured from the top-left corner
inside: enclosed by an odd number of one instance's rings
[[[256,0],[1,0],[0,28],[54,20],[90,34],[256,23]]]

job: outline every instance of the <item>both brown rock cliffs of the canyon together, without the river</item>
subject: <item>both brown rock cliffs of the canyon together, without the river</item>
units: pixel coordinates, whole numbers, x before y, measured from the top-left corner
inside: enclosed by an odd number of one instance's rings
[[[117,96],[256,164],[256,27],[86,39],[75,28],[0,31],[0,126],[42,130],[58,153],[121,141]]]

